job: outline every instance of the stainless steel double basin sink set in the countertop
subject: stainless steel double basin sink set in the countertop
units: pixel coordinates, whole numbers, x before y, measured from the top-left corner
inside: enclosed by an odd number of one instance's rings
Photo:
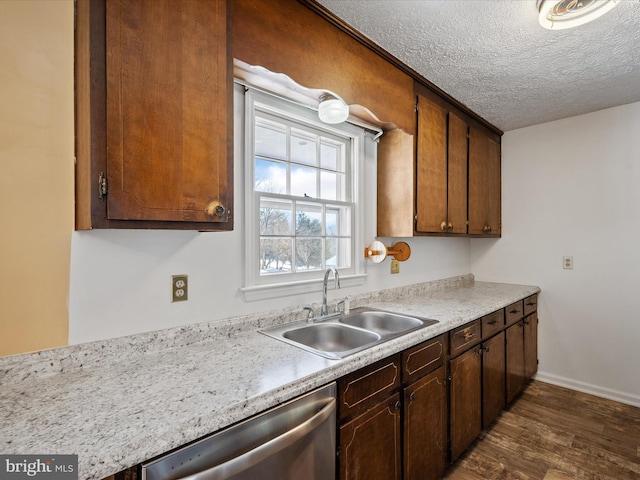
[[[290,323],[261,332],[322,357],[340,359],[435,323],[438,321],[362,307],[313,323]]]

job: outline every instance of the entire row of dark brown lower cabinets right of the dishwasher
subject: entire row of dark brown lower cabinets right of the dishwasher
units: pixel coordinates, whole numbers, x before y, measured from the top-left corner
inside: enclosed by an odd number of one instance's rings
[[[498,310],[341,378],[340,480],[442,478],[536,373],[537,325]]]

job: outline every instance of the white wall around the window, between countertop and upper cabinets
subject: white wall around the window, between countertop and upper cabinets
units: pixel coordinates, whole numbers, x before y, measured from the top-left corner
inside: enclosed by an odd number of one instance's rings
[[[236,108],[241,106],[236,103]],[[236,112],[236,119],[240,118]],[[237,123],[237,122],[236,122]],[[235,131],[241,125],[235,125]],[[236,138],[235,150],[241,149]],[[71,249],[69,343],[113,338],[144,331],[269,311],[287,306],[319,304],[320,285],[307,295],[246,302],[243,286],[243,167],[235,155],[235,229],[224,233],[180,231],[74,232]],[[365,242],[375,236],[376,163],[365,162]],[[383,239],[392,245],[398,239]],[[411,258],[391,275],[390,261],[367,265],[363,286],[330,291],[329,298],[410,285],[469,273],[469,239],[403,239]],[[189,276],[189,300],[170,301],[171,275]]]

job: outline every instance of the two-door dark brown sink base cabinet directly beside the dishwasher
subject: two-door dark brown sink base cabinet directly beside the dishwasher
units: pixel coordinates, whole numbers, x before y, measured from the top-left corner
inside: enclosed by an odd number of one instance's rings
[[[338,381],[341,480],[436,480],[447,462],[446,335]]]

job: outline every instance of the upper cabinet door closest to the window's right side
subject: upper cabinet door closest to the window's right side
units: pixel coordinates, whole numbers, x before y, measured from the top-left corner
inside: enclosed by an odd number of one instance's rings
[[[447,226],[447,111],[418,96],[416,231]]]

